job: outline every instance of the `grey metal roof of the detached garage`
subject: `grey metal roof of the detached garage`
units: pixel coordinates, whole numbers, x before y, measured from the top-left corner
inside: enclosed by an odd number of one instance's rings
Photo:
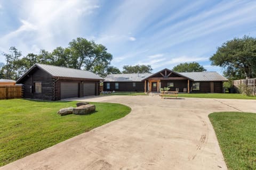
[[[94,74],[90,71],[70,69],[66,67],[47,64],[35,64],[25,74],[23,74],[22,77],[17,80],[17,82],[25,77],[35,67],[38,67],[39,69],[42,69],[45,72],[51,74],[52,77],[104,80],[103,78],[99,77],[99,75]]]

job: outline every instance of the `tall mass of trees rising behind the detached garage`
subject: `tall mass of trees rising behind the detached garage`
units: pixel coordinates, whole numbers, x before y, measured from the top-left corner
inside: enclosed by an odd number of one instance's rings
[[[39,54],[29,53],[22,57],[17,48],[11,47],[10,53],[3,53],[3,56],[6,63],[0,66],[0,78],[5,79],[17,80],[36,63],[84,69],[101,77],[118,70],[110,66],[113,57],[105,46],[79,37],[70,41],[68,47],[57,47],[52,52],[41,49]]]

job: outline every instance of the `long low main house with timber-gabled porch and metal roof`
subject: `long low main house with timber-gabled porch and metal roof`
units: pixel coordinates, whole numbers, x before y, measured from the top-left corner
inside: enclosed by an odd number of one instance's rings
[[[103,90],[159,92],[169,87],[170,91],[221,93],[223,81],[228,79],[217,72],[178,73],[164,69],[155,74],[109,74]]]

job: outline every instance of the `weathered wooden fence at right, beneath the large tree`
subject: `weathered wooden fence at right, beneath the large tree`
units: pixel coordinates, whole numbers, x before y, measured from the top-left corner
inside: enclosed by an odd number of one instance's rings
[[[239,91],[241,89],[241,85],[245,84],[250,88],[251,95],[256,95],[256,78],[253,79],[242,79],[242,80],[234,80],[234,86]]]

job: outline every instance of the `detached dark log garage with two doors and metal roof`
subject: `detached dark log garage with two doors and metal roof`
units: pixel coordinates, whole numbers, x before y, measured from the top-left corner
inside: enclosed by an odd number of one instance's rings
[[[89,71],[35,64],[17,83],[24,84],[24,98],[61,100],[97,96],[101,80],[99,75]]]

